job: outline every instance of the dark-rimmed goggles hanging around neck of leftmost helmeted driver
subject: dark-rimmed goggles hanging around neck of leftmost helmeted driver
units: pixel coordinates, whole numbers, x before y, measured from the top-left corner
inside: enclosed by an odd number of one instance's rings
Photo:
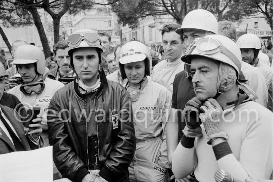
[[[42,77],[42,80],[38,82],[32,82],[32,83],[27,83],[27,84],[22,84],[20,86],[20,91],[22,91],[23,94],[25,95],[31,95],[32,92],[36,94],[40,94],[44,91],[45,89],[45,83],[44,83],[44,77]]]

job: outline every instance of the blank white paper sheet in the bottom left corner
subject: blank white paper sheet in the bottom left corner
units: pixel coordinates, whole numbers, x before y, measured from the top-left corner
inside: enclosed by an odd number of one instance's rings
[[[52,146],[0,155],[0,182],[53,182]]]

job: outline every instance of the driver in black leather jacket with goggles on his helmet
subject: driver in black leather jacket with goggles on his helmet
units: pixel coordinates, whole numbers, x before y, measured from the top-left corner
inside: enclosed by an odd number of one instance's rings
[[[68,37],[76,79],[49,105],[49,140],[55,164],[73,182],[128,182],[136,148],[130,95],[107,81],[100,37],[82,29]],[[69,111],[69,112],[68,112]]]

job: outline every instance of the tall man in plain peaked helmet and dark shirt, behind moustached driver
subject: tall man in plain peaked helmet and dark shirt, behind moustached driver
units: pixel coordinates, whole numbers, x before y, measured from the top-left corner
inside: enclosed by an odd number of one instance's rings
[[[186,49],[196,38],[205,37],[218,33],[218,22],[216,17],[209,11],[198,9],[189,12],[183,19],[180,28],[176,29],[177,34],[183,35]],[[180,59],[181,61],[181,59]],[[185,104],[195,96],[191,74],[189,73],[189,64],[185,64],[185,70],[178,73],[173,81],[173,96],[170,122],[167,123],[167,149],[168,160],[172,164],[172,155],[182,138],[182,130],[185,127],[182,111]],[[187,180],[193,180],[190,175]]]

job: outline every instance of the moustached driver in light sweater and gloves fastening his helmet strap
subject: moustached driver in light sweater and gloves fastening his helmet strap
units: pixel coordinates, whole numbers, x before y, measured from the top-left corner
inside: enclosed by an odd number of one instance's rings
[[[184,135],[172,156],[175,176],[194,171],[199,182],[212,182],[224,169],[242,182],[271,179],[273,113],[239,82],[240,48],[209,35],[195,39],[181,59],[190,64],[196,97],[183,110]]]

